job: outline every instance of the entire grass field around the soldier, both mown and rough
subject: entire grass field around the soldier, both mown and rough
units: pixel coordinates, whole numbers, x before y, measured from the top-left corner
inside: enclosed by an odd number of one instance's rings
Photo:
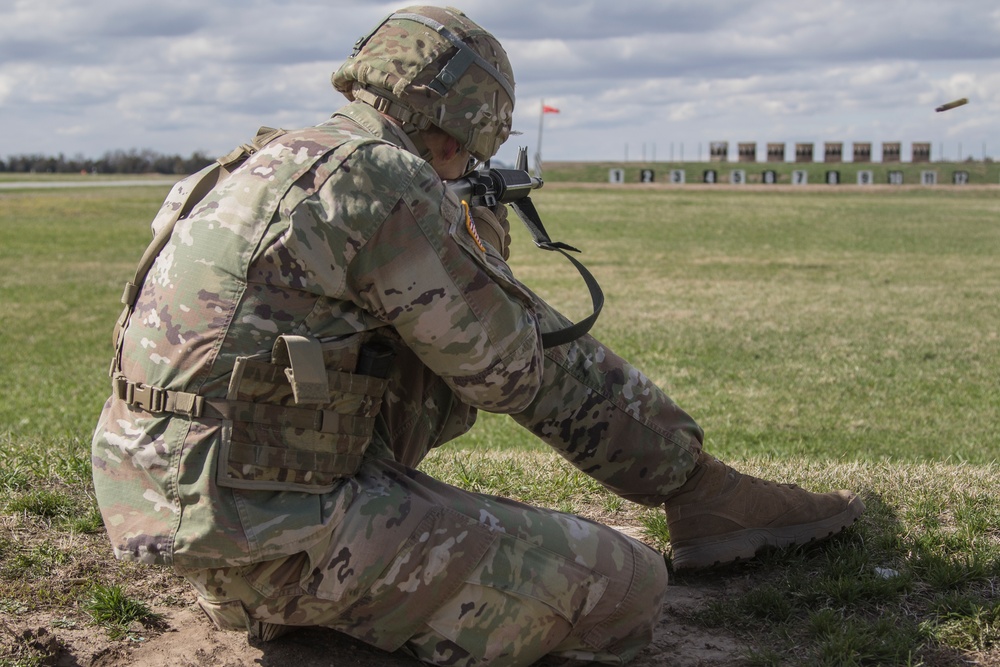
[[[741,637],[748,664],[998,664],[1000,189],[547,179],[534,199],[549,232],[584,250],[607,295],[594,333],[694,415],[716,455],[855,489],[869,508],[826,549],[680,578],[724,583],[686,622]],[[152,600],[164,576],[107,553],[89,437],[121,286],[165,192],[0,193],[0,647],[38,614],[127,637],[94,601]],[[572,267],[512,235],[515,272],[585,315]],[[484,415],[423,467],[668,546],[661,513],[611,496],[509,419]],[[2,667],[43,658],[0,648]]]

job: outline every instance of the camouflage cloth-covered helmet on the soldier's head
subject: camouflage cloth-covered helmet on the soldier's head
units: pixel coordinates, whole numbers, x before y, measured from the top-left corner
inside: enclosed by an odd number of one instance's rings
[[[457,9],[408,7],[389,15],[354,45],[332,77],[408,132],[437,126],[479,160],[510,135],[514,74],[490,33]]]

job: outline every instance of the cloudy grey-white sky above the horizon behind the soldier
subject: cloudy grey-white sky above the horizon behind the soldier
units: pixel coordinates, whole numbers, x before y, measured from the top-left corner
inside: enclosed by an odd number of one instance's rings
[[[516,144],[546,160],[707,158],[708,143],[932,144],[1000,158],[996,0],[448,0],[506,47]],[[330,73],[404,3],[0,0],[0,158],[228,152],[321,122]],[[970,103],[945,113],[956,98]]]

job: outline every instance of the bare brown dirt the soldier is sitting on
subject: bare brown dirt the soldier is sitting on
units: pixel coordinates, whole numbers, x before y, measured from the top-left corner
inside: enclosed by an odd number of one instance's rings
[[[685,619],[723,589],[720,584],[671,588],[653,642],[635,667],[730,667],[741,661],[743,644],[721,631]],[[156,628],[132,628],[123,640],[92,626],[59,627],[58,616],[31,616],[0,625],[0,656],[32,650],[47,655],[45,667],[415,667],[400,654],[386,654],[339,633],[306,628],[271,642],[249,642],[239,632],[216,630],[194,606],[158,606]],[[174,598],[176,600],[176,598]],[[178,602],[180,602],[178,600]],[[27,654],[25,654],[27,655]],[[544,662],[542,663],[544,664]]]

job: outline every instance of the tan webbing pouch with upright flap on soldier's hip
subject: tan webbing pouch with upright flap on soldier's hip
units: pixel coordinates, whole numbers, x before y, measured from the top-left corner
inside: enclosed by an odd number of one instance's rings
[[[284,334],[270,361],[238,358],[216,483],[323,493],[357,472],[389,384],[359,372],[359,346],[357,337],[320,343]],[[345,367],[354,372],[338,370]]]

